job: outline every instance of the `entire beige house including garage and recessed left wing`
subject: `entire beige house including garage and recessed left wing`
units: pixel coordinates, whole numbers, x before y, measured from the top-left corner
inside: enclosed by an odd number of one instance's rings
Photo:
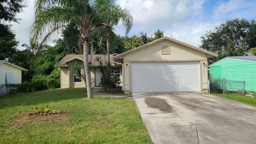
[[[89,71],[91,86],[99,86],[100,72],[94,54]],[[122,54],[110,55],[113,72],[122,82],[122,90],[131,92],[176,92],[208,90],[208,58],[217,57],[207,50],[163,37]],[[90,55],[89,61],[90,61]],[[56,66],[60,67],[60,87],[85,87],[84,80],[74,74],[74,61],[83,64],[83,55],[67,55]]]

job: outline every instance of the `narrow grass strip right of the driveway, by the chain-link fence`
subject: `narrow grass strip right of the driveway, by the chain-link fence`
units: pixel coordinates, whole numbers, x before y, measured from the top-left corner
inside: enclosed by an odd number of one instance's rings
[[[250,98],[249,96],[241,96],[237,94],[214,94],[216,96],[220,96],[222,98],[228,98],[230,100],[235,100],[237,102],[242,102],[244,104],[249,104],[252,106],[256,106],[256,98]]]

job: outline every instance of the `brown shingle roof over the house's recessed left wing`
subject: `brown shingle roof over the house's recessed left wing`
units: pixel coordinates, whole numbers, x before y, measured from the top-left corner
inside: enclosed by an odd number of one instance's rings
[[[101,56],[103,59],[106,58],[106,55],[103,54],[93,54],[92,55],[92,62],[90,64],[90,66],[98,66],[98,62],[96,60],[97,57]],[[70,62],[72,60],[84,60],[84,55],[83,54],[68,54],[66,56],[64,56],[64,58],[62,58],[62,60],[60,60],[60,62],[58,62],[58,64],[56,64],[56,67],[65,67],[68,66],[68,64],[66,64],[67,62]],[[90,62],[91,60],[91,55],[88,55],[88,60]],[[110,63],[113,63],[113,54],[110,54]]]

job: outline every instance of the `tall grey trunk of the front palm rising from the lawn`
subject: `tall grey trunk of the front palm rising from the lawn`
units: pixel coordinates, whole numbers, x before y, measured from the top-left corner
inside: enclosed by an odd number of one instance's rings
[[[84,40],[83,42],[83,52],[84,52],[84,71],[85,71],[85,78],[86,78],[87,98],[92,99],[91,80],[90,80],[89,64],[88,64],[88,41],[86,40]]]

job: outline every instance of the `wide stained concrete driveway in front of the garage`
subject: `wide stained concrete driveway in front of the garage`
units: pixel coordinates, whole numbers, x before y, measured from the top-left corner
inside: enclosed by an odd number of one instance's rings
[[[132,93],[155,144],[256,144],[256,107],[203,92]]]

